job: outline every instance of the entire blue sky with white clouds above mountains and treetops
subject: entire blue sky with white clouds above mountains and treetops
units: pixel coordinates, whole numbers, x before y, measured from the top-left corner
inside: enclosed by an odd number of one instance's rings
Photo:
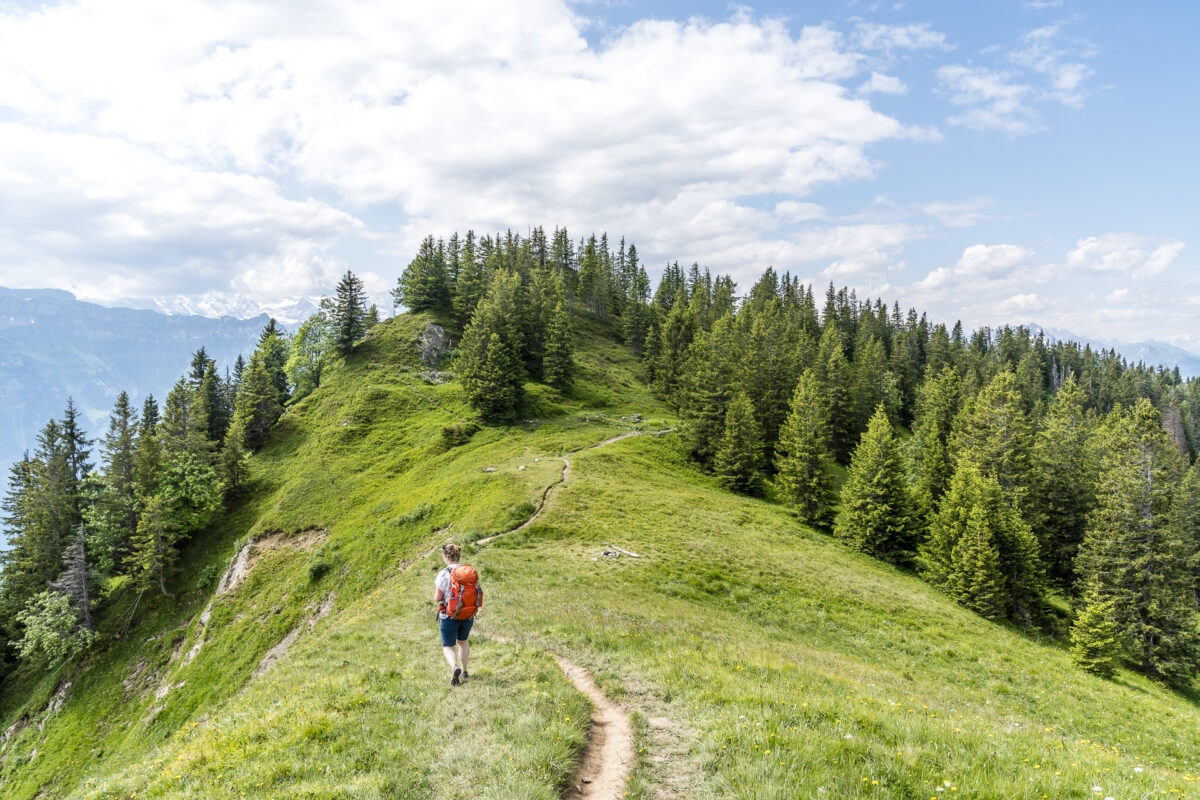
[[[0,284],[251,313],[566,224],[1200,348],[1192,4],[428,5],[0,1]]]

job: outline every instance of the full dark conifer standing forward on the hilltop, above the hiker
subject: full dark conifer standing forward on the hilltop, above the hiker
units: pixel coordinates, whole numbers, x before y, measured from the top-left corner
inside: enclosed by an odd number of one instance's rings
[[[458,374],[467,402],[488,421],[512,419],[523,393],[520,294],[521,276],[497,272],[458,348]]]

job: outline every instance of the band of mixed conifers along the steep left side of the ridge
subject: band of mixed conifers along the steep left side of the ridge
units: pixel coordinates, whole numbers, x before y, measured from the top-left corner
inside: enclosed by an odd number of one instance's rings
[[[362,282],[347,271],[294,336],[271,319],[250,359],[238,356],[223,374],[200,347],[161,405],[151,395],[137,408],[120,392],[95,441],[68,401],[12,465],[0,503],[2,670],[19,661],[56,666],[86,650],[97,612],[119,596],[168,595],[179,547],[242,491],[250,453],[284,407],[319,386],[376,321]]]

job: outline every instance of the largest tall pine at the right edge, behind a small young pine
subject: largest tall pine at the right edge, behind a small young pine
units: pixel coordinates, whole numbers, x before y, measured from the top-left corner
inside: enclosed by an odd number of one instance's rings
[[[1118,637],[1141,668],[1181,680],[1200,652],[1186,536],[1171,515],[1180,453],[1148,399],[1111,416],[1076,571],[1112,601]]]

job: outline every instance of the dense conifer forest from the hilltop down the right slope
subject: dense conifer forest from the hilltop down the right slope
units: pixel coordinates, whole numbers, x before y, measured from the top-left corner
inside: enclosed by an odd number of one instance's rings
[[[468,398],[500,420],[539,377],[546,281],[556,308],[620,331],[727,488],[988,618],[1052,628],[1052,597],[1068,599],[1093,672],[1124,657],[1166,680],[1195,673],[1195,379],[1024,327],[967,333],[846,288],[820,297],[773,269],[738,295],[674,263],[652,295],[634,245],[565,229],[428,237],[396,299],[466,325]]]

